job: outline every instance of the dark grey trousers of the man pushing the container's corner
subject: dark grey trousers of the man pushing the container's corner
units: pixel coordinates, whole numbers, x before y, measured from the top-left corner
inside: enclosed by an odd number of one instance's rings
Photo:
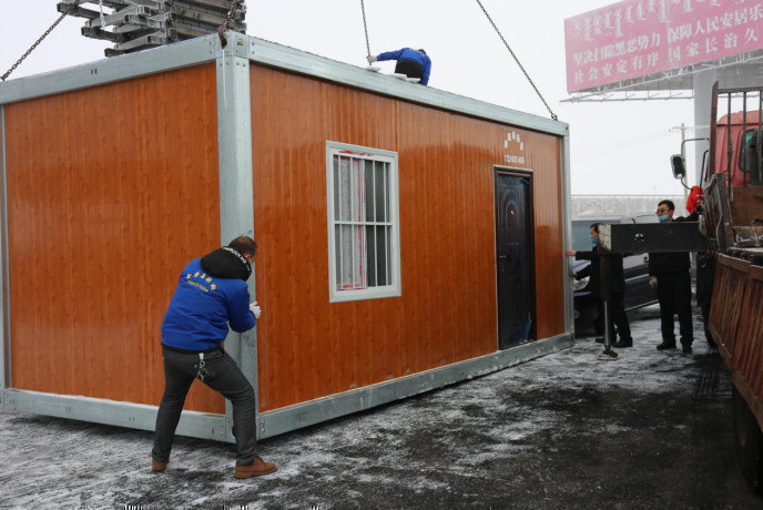
[[[199,373],[199,354],[179,353],[162,348],[164,357],[164,396],[156,415],[156,434],[151,457],[170,460],[172,441],[185,396]],[[236,466],[250,466],[256,455],[256,416],[254,390],[238,366],[222,349],[204,354],[207,375],[204,384],[222,394],[233,405],[233,426],[236,429]]]

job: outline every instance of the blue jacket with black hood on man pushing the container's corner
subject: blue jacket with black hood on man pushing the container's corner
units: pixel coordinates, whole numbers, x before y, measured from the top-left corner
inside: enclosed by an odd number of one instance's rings
[[[250,310],[246,286],[251,272],[246,259],[230,247],[191,261],[164,315],[162,344],[207,350],[225,340],[228,323],[234,332],[252,329],[256,319]]]

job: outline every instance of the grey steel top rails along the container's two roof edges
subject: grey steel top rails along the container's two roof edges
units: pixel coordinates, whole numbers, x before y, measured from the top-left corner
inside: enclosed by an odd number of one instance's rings
[[[516,128],[563,136],[564,122],[498,106],[429,86],[404,82],[364,68],[338,62],[302,50],[237,32],[225,32],[231,41],[221,47],[217,34],[204,35],[151,50],[112,57],[59,71],[0,83],[0,104],[111,83],[200,63],[222,54],[247,58],[252,62],[337,82],[369,92],[390,95],[438,109],[507,123]]]

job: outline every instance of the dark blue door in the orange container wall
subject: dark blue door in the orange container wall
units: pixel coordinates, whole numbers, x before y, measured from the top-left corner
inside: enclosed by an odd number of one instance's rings
[[[522,344],[535,330],[532,182],[520,174],[496,173],[498,248],[498,346]]]

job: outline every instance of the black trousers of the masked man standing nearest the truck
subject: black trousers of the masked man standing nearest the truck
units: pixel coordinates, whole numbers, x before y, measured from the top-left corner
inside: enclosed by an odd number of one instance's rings
[[[691,275],[689,271],[657,275],[657,298],[660,302],[662,341],[675,344],[673,316],[679,314],[681,344],[694,340],[691,310]]]

